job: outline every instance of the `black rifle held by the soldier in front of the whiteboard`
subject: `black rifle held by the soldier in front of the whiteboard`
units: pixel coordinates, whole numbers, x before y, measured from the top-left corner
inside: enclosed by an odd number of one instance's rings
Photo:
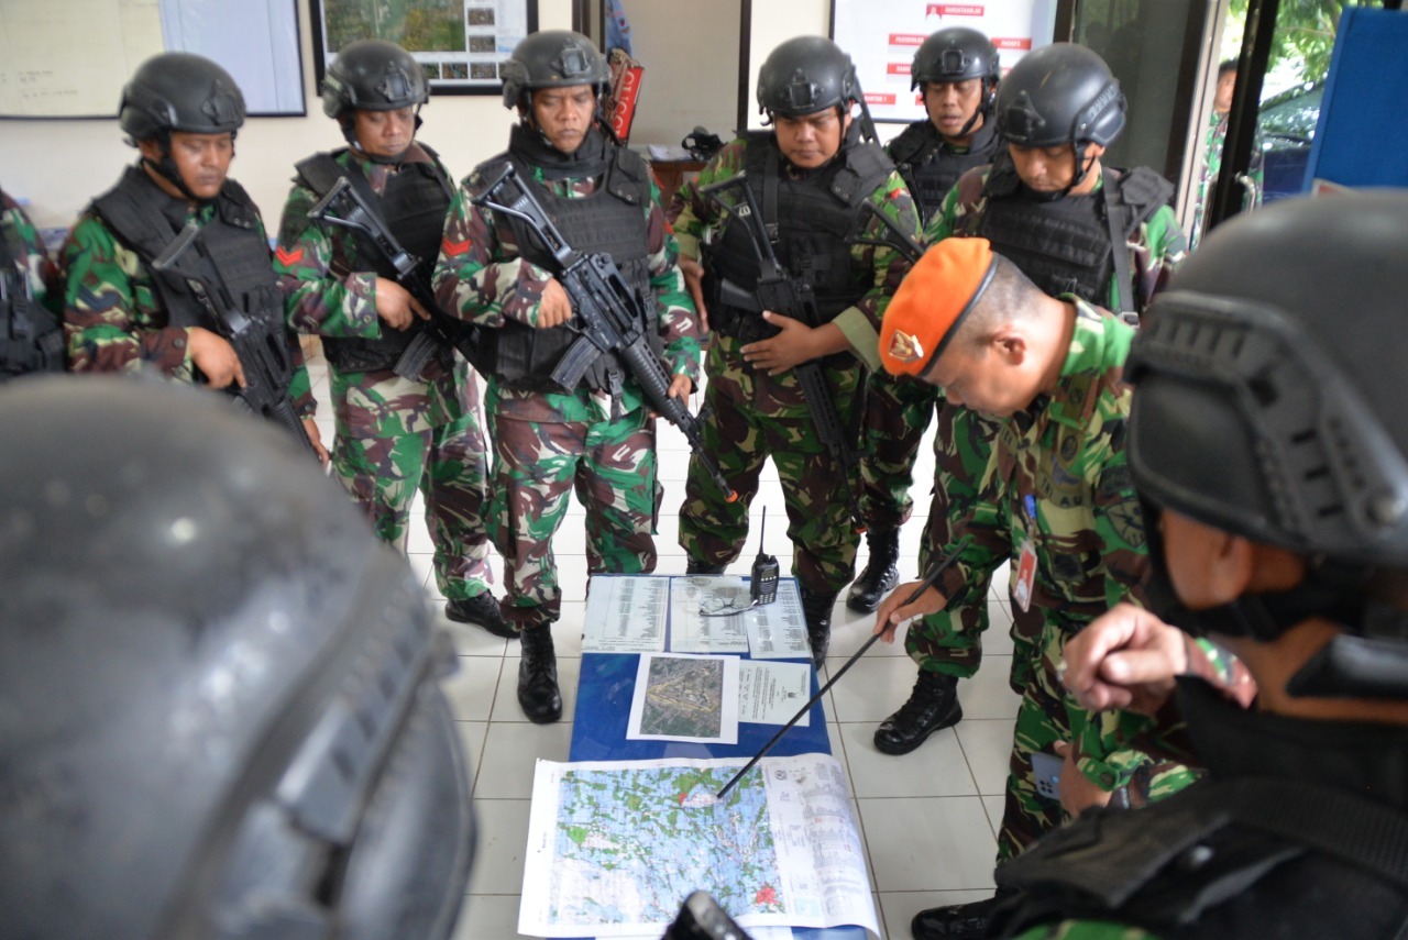
[[[199,269],[191,269],[182,262],[182,256],[194,252],[200,260]],[[293,359],[289,356],[287,331],[283,325],[283,307],[276,307],[279,318],[270,324],[266,319],[252,317],[252,311],[244,311],[235,305],[230,291],[217,279],[215,265],[210,259],[204,241],[200,238],[200,225],[187,222],[176,235],[166,250],[152,262],[152,269],[158,272],[172,272],[186,280],[191,293],[215,321],[215,329],[235,349],[239,366],[245,370],[245,387],[231,388],[235,398],[249,411],[262,418],[268,418],[282,425],[303,442],[303,446],[313,450],[308,432],[303,429],[303,421],[289,397],[289,383],[293,381]]]

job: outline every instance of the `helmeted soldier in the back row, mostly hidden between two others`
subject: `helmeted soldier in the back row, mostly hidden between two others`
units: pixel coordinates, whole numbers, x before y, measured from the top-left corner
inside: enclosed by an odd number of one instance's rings
[[[993,122],[1000,77],[997,48],[969,27],[939,30],[914,53],[910,86],[922,96],[928,118],[907,127],[886,152],[925,220],[939,211],[959,176],[993,162],[1000,142]],[[866,381],[860,511],[870,559],[846,598],[853,611],[876,609],[900,577],[900,526],[914,509],[914,460],[936,402],[932,386],[884,371],[870,373]],[[986,619],[986,606],[974,615]]]

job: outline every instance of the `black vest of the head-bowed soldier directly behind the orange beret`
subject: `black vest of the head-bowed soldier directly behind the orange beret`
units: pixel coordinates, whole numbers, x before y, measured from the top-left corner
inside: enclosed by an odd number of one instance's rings
[[[991,241],[993,250],[1017,265],[1046,294],[1076,294],[1107,307],[1111,277],[1119,267],[1110,212],[1118,214],[1114,228],[1121,234],[1119,249],[1125,252],[1119,260],[1126,260],[1125,241],[1167,204],[1171,194],[1171,184],[1148,167],[1129,173],[1105,167],[1102,186],[1094,193],[1057,200],[1029,198],[1021,191],[1017,169],[1000,159],[983,187],[987,203],[973,234]],[[1143,300],[1133,279],[1119,280],[1121,304],[1139,311]]]

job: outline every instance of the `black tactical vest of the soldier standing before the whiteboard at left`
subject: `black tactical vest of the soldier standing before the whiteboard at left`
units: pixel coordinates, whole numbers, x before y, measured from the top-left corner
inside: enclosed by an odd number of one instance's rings
[[[176,238],[186,204],[161,190],[146,172],[130,166],[111,190],[90,207],[117,239],[146,266],[152,287],[166,314],[168,326],[203,326],[222,332],[213,312],[177,272],[158,272],[152,262]],[[225,180],[215,197],[215,215],[201,225],[200,241],[210,256],[215,283],[231,303],[251,318],[276,324],[283,331],[283,294],[275,283],[269,243],[259,232],[259,211],[249,194],[234,180]]]

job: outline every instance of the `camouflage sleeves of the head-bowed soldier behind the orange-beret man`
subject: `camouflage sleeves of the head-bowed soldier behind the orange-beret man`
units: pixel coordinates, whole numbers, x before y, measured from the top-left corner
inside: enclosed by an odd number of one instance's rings
[[[957,186],[943,197],[943,207],[929,220],[924,232],[931,245],[949,235],[972,235],[977,231],[977,224],[983,220],[983,210],[987,204],[987,197],[981,193],[990,169],[969,170]],[[1104,180],[1098,180],[1094,191],[1098,193],[1102,187]],[[967,194],[973,196],[964,198]],[[1187,239],[1178,231],[1178,220],[1173,210],[1162,205],[1139,224],[1139,234],[1128,242],[1128,248],[1133,262],[1131,270],[1138,293],[1138,308],[1146,310],[1153,296],[1169,286],[1173,270],[1187,253]],[[1104,304],[1110,310],[1119,308],[1118,287],[1117,277],[1111,274],[1110,293]]]

